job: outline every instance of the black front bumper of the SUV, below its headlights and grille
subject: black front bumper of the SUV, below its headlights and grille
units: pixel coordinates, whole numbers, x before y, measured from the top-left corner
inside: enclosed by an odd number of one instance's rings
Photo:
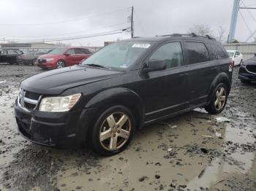
[[[48,113],[25,111],[15,101],[15,117],[21,135],[35,144],[69,147],[86,140],[94,109]]]

